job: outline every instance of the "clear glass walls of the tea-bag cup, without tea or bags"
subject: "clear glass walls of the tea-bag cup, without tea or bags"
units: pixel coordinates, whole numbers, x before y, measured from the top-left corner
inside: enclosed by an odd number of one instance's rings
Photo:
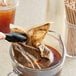
[[[59,76],[65,60],[65,48],[61,39],[61,36],[54,31],[49,31],[44,43],[57,50],[61,55],[60,61],[46,69],[31,69],[18,63],[14,57],[13,48],[11,46],[9,52],[12,59],[13,72],[9,73],[8,76]]]

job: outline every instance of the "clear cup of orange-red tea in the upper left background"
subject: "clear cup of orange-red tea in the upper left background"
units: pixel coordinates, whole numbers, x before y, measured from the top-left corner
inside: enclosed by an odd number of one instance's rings
[[[0,31],[10,32],[10,24],[14,24],[18,0],[6,0],[6,4],[0,3]]]

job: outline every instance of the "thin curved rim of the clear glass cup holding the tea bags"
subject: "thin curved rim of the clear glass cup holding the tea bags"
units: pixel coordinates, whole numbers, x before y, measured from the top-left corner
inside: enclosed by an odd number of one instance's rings
[[[51,30],[49,30],[49,32],[56,33],[55,31],[51,31]],[[65,56],[66,56],[66,51],[65,51],[65,47],[64,47],[64,44],[63,44],[63,40],[62,40],[62,38],[61,38],[61,35],[58,34],[58,33],[56,33],[56,34],[60,37],[61,44],[62,44],[62,46],[63,46],[62,57],[61,57],[61,60],[60,60],[57,64],[55,64],[55,65],[53,65],[53,66],[51,66],[51,67],[49,67],[49,68],[45,68],[45,69],[32,69],[32,68],[29,68],[29,67],[25,67],[25,66],[21,65],[20,63],[18,63],[18,62],[16,61],[16,59],[13,57],[13,55],[12,55],[12,46],[10,46],[10,50],[9,50],[11,59],[13,60],[13,62],[14,62],[15,64],[17,64],[17,65],[20,66],[21,68],[28,69],[28,70],[31,70],[31,71],[46,71],[46,70],[50,70],[50,69],[56,68],[56,67],[59,66],[60,64],[63,64],[63,63],[64,63]]]

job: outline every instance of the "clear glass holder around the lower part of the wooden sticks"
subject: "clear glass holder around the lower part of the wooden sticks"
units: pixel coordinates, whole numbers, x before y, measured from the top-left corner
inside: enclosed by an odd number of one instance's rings
[[[67,49],[67,55],[69,57],[76,56],[76,25],[66,21],[66,35],[65,44]]]

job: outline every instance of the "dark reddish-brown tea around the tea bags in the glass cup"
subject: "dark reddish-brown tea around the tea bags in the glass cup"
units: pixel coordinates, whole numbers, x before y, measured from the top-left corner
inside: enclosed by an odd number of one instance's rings
[[[47,59],[43,60],[43,62],[41,60],[38,60],[37,63],[38,64],[40,63],[40,65],[42,66],[42,68],[51,67],[51,66],[57,64],[61,60],[61,55],[59,54],[59,52],[56,49],[54,49],[53,47],[48,46],[48,45],[46,45],[46,47],[48,47],[53,52],[54,61],[53,61],[53,63],[50,66],[43,66],[45,64],[47,65],[48,60]],[[18,51],[14,50],[14,53],[15,53],[16,60],[20,64],[22,64],[22,65],[24,65],[26,67],[32,68],[30,64],[27,64],[27,61],[25,60],[25,58]]]

